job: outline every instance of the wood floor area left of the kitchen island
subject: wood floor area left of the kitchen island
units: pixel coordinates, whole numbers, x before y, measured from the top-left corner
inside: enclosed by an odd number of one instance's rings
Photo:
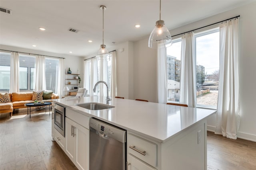
[[[16,110],[12,118],[9,113],[0,114],[0,170],[77,170],[52,142],[48,109],[33,111],[31,118],[26,108]]]

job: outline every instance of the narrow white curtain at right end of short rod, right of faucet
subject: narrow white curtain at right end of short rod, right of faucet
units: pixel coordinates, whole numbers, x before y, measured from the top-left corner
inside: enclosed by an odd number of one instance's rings
[[[111,52],[112,64],[111,64],[111,90],[110,97],[116,97],[116,51]]]

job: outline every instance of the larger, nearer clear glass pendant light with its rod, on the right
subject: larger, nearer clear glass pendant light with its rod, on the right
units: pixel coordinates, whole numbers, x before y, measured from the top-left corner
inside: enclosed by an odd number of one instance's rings
[[[170,47],[172,45],[172,36],[166,26],[164,26],[164,21],[161,20],[161,0],[160,0],[160,19],[156,21],[156,27],[150,34],[148,39],[148,47],[156,49],[158,47]]]

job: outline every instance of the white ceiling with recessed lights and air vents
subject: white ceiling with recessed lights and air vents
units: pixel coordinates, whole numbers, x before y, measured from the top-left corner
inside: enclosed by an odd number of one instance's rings
[[[174,29],[242,6],[247,0],[162,0],[161,19]],[[0,0],[0,45],[88,56],[106,47],[149,36],[159,20],[159,0]],[[134,25],[140,24],[140,28]],[[45,27],[40,31],[38,27]],[[78,29],[78,33],[68,31]],[[172,34],[172,32],[170,32]],[[93,40],[89,43],[88,40]],[[36,45],[36,47],[32,47]]]

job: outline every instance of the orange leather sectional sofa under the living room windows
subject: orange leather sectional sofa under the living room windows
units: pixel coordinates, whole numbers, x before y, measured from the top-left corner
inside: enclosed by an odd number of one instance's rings
[[[15,109],[20,108],[26,108],[25,104],[34,102],[32,100],[33,92],[14,92],[12,94],[9,93],[11,102],[7,103],[0,103],[0,113],[9,113],[10,117],[12,117],[12,112],[15,111]],[[46,102],[52,102],[52,99],[58,99],[59,96],[57,94],[52,93],[51,100],[44,100]]]

